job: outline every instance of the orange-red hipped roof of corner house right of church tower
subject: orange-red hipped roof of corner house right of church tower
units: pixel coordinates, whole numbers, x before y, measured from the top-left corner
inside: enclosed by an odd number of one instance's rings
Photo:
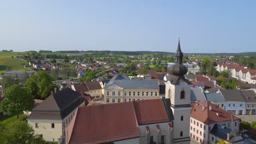
[[[190,116],[205,124],[231,121],[231,116],[233,116],[207,100],[201,100],[198,104],[194,103],[191,105],[193,108]],[[205,106],[205,110],[202,110],[202,106]],[[212,107],[212,110],[210,110],[210,106]],[[217,113],[219,113],[219,116]],[[237,120],[240,118],[233,116],[233,119]]]

